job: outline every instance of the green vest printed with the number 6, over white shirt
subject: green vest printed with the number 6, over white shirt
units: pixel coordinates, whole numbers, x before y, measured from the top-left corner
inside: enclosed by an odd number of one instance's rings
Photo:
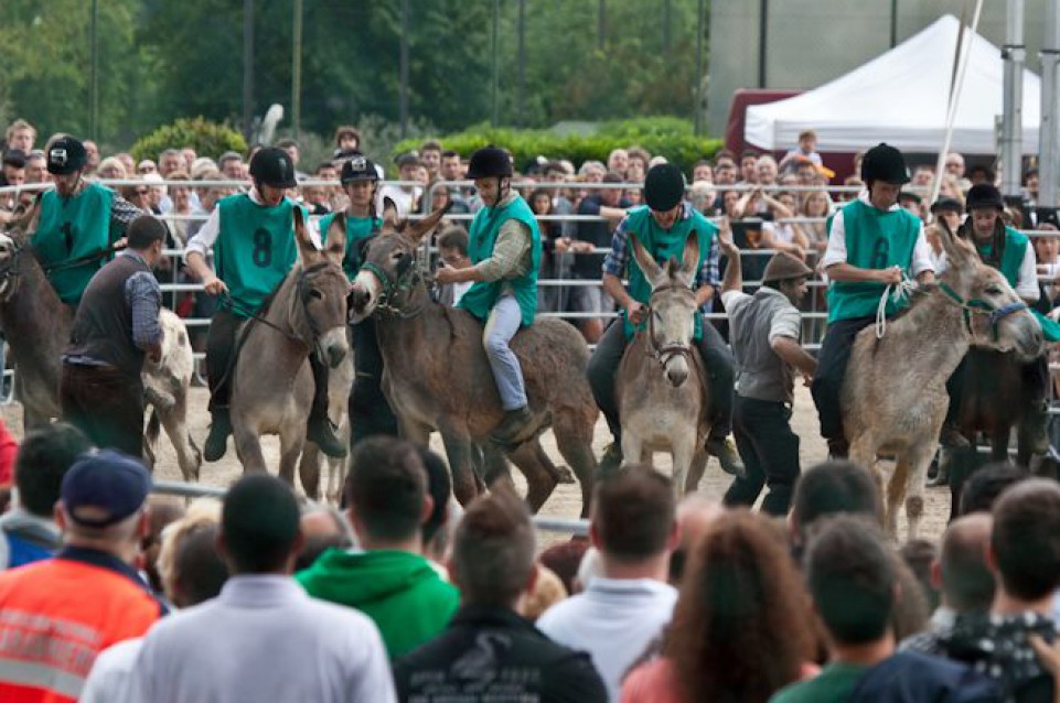
[[[920,219],[916,215],[904,208],[885,212],[861,201],[844,205],[840,212],[846,234],[847,263],[875,270],[897,266],[906,275],[912,275],[909,269],[920,236]],[[827,223],[829,232],[833,217]],[[886,288],[875,282],[833,281],[827,295],[828,322],[875,315]],[[888,299],[887,315],[893,315],[907,304],[907,301],[896,303]]]

